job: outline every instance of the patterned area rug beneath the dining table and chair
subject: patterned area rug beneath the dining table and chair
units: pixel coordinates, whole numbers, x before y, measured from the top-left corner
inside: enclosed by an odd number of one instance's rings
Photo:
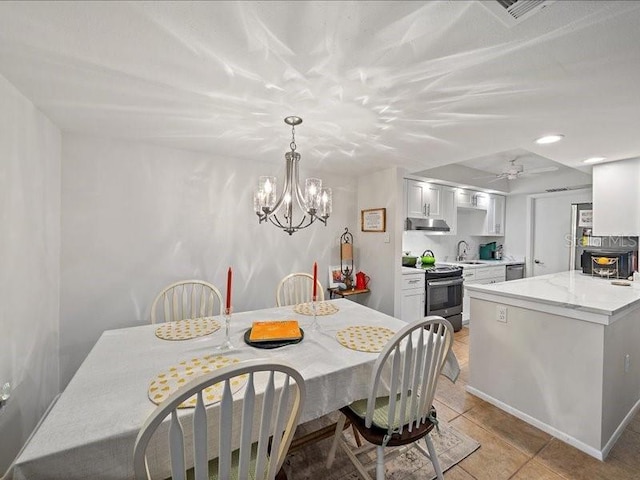
[[[296,436],[317,430],[335,420],[335,417],[322,417],[301,425]],[[354,442],[350,430],[345,431],[350,442]],[[459,432],[444,421],[440,421],[440,433],[432,431],[431,439],[438,453],[443,471],[456,465],[480,447],[474,439]],[[331,469],[325,467],[327,454],[333,438],[326,438],[305,447],[294,449],[287,455],[284,469],[290,480],[357,480],[359,475],[346,454],[339,448]],[[424,442],[422,442],[424,445]],[[355,445],[355,443],[354,443]],[[391,449],[389,449],[391,450]],[[375,458],[375,450],[370,454]],[[370,471],[375,478],[375,469]],[[415,448],[397,455],[386,462],[386,477],[393,480],[432,480],[436,478],[433,465]]]

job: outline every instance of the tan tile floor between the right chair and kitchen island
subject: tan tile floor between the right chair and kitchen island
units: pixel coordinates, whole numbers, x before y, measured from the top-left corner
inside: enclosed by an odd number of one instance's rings
[[[438,383],[438,416],[481,447],[447,471],[447,480],[640,479],[640,415],[601,462],[467,393],[468,328],[456,333],[453,348],[461,374],[455,384],[444,377]]]

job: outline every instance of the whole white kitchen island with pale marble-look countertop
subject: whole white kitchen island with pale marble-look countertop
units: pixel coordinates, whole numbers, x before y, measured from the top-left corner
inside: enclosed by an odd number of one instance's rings
[[[467,390],[603,460],[640,410],[640,282],[578,271],[471,298]]]

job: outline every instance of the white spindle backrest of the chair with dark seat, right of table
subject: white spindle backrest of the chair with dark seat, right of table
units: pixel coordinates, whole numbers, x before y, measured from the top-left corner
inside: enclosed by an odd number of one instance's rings
[[[365,417],[367,428],[371,427],[379,397],[388,397],[388,418],[384,423],[388,422],[389,435],[402,433],[404,426],[412,431],[426,422],[451,345],[453,327],[438,316],[416,320],[397,332],[374,364]],[[381,378],[383,372],[386,373]]]

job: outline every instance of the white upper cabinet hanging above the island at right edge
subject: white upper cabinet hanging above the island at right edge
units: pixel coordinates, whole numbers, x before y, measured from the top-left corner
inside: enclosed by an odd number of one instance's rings
[[[593,166],[593,235],[640,235],[640,158]]]

